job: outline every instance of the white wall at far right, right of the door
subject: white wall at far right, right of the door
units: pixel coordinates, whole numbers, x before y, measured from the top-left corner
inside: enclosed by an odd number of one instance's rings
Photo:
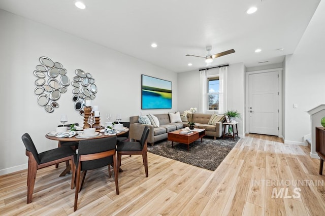
[[[325,101],[324,26],[325,2],[320,1],[294,54],[285,58],[286,143],[303,145],[303,136],[311,132],[306,111]]]

